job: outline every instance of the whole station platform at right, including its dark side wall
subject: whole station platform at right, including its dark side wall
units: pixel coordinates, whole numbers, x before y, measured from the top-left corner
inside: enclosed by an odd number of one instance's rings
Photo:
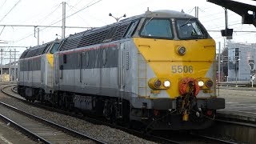
[[[238,143],[256,142],[256,88],[220,86],[219,98],[225,98],[226,108],[217,110],[214,126],[205,133],[222,135]]]

